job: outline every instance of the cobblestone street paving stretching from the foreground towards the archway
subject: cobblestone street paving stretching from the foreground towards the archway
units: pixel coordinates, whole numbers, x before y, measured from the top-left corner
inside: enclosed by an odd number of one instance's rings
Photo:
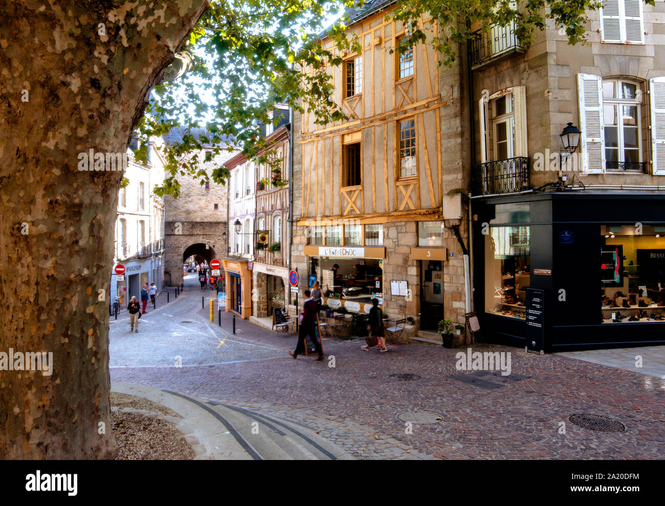
[[[367,352],[358,339],[324,339],[324,362],[293,360],[293,334],[238,318],[231,335],[230,313],[218,327],[206,321],[198,297],[188,288],[161,313],[144,316],[138,334],[112,328],[111,379],[281,416],[319,430],[356,458],[665,458],[665,380],[657,377],[561,355],[475,347],[510,352],[511,375],[466,372],[463,379],[474,382],[463,382],[450,376],[465,373],[456,370],[456,353],[466,349],[391,345],[389,353]],[[182,355],[182,368],[173,367],[174,355]],[[420,378],[390,377],[398,374]],[[405,412],[432,412],[436,423],[409,430],[398,419]],[[569,421],[573,414],[613,418],[625,430],[582,428]]]

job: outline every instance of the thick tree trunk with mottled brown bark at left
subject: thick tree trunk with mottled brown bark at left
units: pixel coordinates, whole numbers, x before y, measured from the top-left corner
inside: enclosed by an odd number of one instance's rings
[[[108,285],[123,173],[79,171],[78,155],[124,153],[150,89],[207,6],[2,2],[0,352],[53,352],[53,374],[0,371],[0,458],[117,452]]]

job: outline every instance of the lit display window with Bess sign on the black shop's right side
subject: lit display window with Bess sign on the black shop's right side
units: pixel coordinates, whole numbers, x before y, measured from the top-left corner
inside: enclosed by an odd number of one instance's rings
[[[600,226],[602,323],[665,321],[664,235],[665,225]]]

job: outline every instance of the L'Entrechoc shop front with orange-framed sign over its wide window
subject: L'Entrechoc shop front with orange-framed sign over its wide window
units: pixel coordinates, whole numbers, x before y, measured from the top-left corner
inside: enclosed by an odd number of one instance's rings
[[[321,284],[323,304],[369,313],[372,299],[383,306],[383,247],[305,246],[308,286]]]

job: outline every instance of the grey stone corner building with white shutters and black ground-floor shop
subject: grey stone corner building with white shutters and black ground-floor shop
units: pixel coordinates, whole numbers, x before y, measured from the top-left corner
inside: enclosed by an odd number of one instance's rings
[[[662,341],[665,6],[603,5],[587,45],[551,21],[528,48],[510,26],[474,27],[474,302],[497,342]]]

